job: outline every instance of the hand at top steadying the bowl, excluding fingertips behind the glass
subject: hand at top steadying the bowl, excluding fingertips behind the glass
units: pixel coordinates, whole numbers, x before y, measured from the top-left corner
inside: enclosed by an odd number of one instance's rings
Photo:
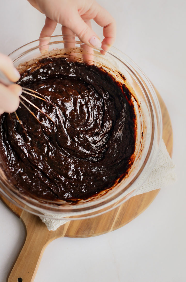
[[[51,36],[57,23],[71,30],[79,39],[90,47],[102,47],[107,51],[116,36],[116,23],[113,17],[95,0],[28,0],[41,13],[46,15],[45,25],[40,38]],[[104,39],[101,42],[92,30],[90,20],[103,27]]]

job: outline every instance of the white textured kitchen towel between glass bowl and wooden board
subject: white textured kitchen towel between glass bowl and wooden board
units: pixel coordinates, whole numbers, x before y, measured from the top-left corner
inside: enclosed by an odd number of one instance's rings
[[[175,166],[169,156],[165,143],[162,140],[156,164],[152,169],[152,172],[150,173],[148,179],[141,186],[141,188],[139,188],[139,190],[135,194],[133,194],[132,197],[152,190],[163,188],[173,183],[175,180]],[[61,219],[49,219],[43,217],[41,219],[46,224],[48,230],[52,231],[55,231],[59,226],[68,222],[68,220]]]

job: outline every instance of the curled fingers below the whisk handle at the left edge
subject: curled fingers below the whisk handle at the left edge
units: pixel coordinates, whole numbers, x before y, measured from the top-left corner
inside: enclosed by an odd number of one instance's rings
[[[20,85],[12,84],[8,87],[0,83],[0,114],[12,113],[19,107],[19,95],[22,93]]]

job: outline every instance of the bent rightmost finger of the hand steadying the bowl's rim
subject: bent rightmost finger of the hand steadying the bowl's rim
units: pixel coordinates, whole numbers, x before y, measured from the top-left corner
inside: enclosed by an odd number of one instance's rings
[[[99,5],[100,6],[100,5]],[[97,15],[94,18],[95,22],[103,27],[102,49],[107,51],[114,43],[116,38],[116,22],[107,10],[100,6]]]

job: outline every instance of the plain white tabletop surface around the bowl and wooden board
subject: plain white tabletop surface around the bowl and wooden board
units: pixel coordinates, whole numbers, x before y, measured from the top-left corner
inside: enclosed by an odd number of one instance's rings
[[[139,217],[116,231],[92,238],[52,241],[34,282],[185,282],[186,2],[98,2],[117,21],[114,46],[139,65],[167,106],[178,180],[163,188]],[[45,16],[26,0],[1,0],[0,52],[9,54],[38,39],[44,21]],[[101,28],[95,24],[93,27],[102,38]],[[54,32],[57,34],[60,25]],[[0,215],[0,281],[4,282],[23,242],[24,228],[1,202]]]

